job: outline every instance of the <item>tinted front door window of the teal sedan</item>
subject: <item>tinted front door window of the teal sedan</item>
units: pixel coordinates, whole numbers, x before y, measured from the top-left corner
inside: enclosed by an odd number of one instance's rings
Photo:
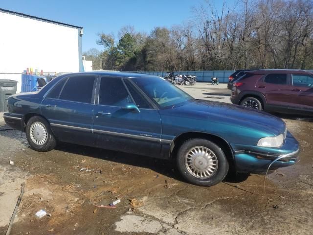
[[[99,88],[99,104],[123,107],[133,102],[122,80],[117,77],[102,77]]]

